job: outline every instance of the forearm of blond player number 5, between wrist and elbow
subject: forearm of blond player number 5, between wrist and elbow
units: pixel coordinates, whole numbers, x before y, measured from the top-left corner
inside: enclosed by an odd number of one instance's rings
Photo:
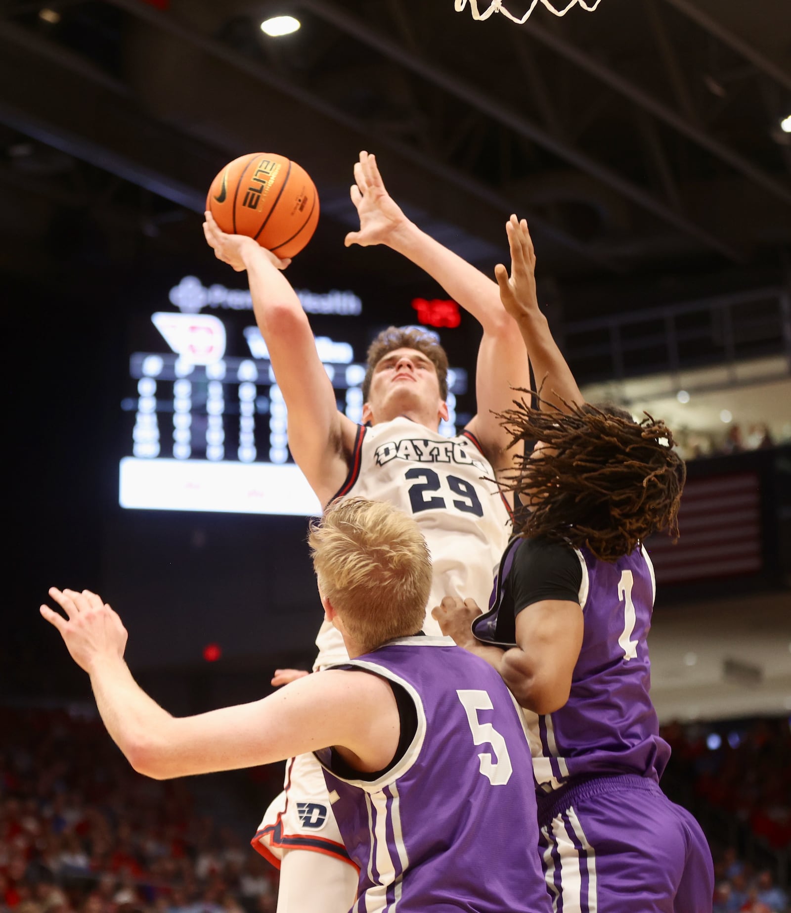
[[[167,740],[172,716],[134,680],[122,659],[101,659],[91,669],[90,684],[110,738],[136,771],[151,771],[151,747]]]

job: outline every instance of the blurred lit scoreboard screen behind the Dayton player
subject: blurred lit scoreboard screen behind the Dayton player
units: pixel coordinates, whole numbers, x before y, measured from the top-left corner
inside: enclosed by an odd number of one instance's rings
[[[359,422],[365,352],[387,323],[366,320],[363,302],[349,291],[297,295],[311,315],[338,409]],[[120,506],[319,513],[288,451],[286,403],[255,326],[249,290],[207,288],[186,277],[169,297],[178,310],[158,310],[132,328],[136,351],[130,355],[129,394],[121,403],[130,422],[127,455],[120,460]],[[415,316],[423,319],[430,304],[412,302]],[[447,307],[453,302],[435,304],[444,310],[434,312],[448,314],[445,326],[458,325],[458,310]],[[440,430],[453,436],[468,417],[457,414],[459,397],[467,393],[466,370],[452,368],[448,385],[450,419]]]

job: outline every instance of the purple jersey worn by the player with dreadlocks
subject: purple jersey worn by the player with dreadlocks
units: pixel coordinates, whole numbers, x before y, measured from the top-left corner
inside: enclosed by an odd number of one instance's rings
[[[513,562],[518,547],[509,547],[504,561]],[[536,782],[544,792],[601,774],[636,773],[659,782],[671,752],[649,696],[646,638],[655,595],[650,558],[642,547],[611,564],[587,549],[577,554],[585,633],[571,693],[555,713],[525,711]],[[496,613],[494,604],[474,624],[480,639],[495,640]]]

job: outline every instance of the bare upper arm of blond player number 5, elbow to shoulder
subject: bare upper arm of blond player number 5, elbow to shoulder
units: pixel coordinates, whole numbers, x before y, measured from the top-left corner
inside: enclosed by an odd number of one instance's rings
[[[386,682],[330,669],[252,704],[170,718],[136,746],[130,762],[146,776],[168,780],[340,746],[362,769],[376,771],[392,759],[399,734],[398,708]]]

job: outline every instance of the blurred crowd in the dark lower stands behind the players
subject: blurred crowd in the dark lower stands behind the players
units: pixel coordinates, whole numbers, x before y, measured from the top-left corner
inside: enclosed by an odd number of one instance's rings
[[[200,778],[132,771],[93,713],[0,708],[0,731],[0,913],[274,913],[276,870],[245,828],[279,791],[279,767],[244,774],[254,807],[232,828],[204,813]],[[710,834],[714,913],[789,913],[777,867],[755,853],[776,862],[791,851],[788,720],[662,734],[671,798],[699,815],[718,809],[757,838],[740,855]]]

